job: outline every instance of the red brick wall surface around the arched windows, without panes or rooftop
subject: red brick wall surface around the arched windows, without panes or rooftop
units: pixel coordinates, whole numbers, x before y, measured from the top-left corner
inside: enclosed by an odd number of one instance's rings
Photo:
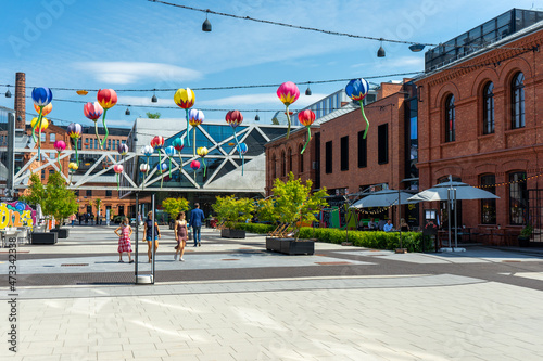
[[[482,176],[495,176],[495,223],[512,225],[509,207],[513,172],[526,172],[527,188],[542,188],[543,126],[539,121],[543,101],[543,30],[530,34],[508,48],[497,49],[453,64],[416,81],[419,93],[419,185],[428,189],[452,175],[470,185],[481,184]],[[536,51],[529,49],[536,48]],[[523,127],[513,126],[513,82],[523,75]],[[483,132],[485,98],[493,83],[494,132]],[[454,96],[455,140],[445,141],[445,102]],[[532,178],[533,177],[533,178]],[[481,227],[480,201],[463,202],[463,223]],[[435,205],[433,205],[435,206]],[[523,216],[525,223],[528,216]],[[485,222],[488,224],[488,222]],[[514,222],[518,224],[518,220]]]

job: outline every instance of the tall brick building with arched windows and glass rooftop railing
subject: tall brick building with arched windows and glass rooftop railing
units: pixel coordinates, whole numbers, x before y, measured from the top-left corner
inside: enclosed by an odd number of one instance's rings
[[[420,188],[452,175],[500,196],[464,201],[459,224],[541,228],[542,20],[513,9],[426,53],[416,80]]]

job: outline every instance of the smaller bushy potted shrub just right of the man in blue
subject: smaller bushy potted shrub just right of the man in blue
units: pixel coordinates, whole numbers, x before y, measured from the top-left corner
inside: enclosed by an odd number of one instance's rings
[[[249,198],[235,198],[233,195],[226,197],[217,196],[213,205],[213,210],[217,214],[219,222],[225,223],[220,230],[220,236],[224,238],[244,238],[244,230],[236,230],[236,223],[244,222],[251,218],[254,211],[254,202]]]

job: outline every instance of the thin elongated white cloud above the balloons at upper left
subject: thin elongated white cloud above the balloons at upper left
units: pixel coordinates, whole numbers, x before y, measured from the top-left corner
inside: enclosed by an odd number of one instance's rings
[[[137,62],[80,62],[74,64],[79,70],[90,72],[98,81],[127,85],[142,80],[157,82],[188,81],[201,78],[198,70],[163,63]]]

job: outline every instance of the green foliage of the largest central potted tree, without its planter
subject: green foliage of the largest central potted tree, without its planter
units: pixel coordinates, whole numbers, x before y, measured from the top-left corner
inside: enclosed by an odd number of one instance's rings
[[[300,179],[294,179],[292,172],[289,172],[287,182],[276,179],[274,183],[272,192],[275,199],[275,212],[279,221],[294,224],[296,240],[302,223],[317,220],[314,214],[327,206],[324,198],[327,196],[326,189],[312,194],[312,186],[311,180],[303,184]]]

